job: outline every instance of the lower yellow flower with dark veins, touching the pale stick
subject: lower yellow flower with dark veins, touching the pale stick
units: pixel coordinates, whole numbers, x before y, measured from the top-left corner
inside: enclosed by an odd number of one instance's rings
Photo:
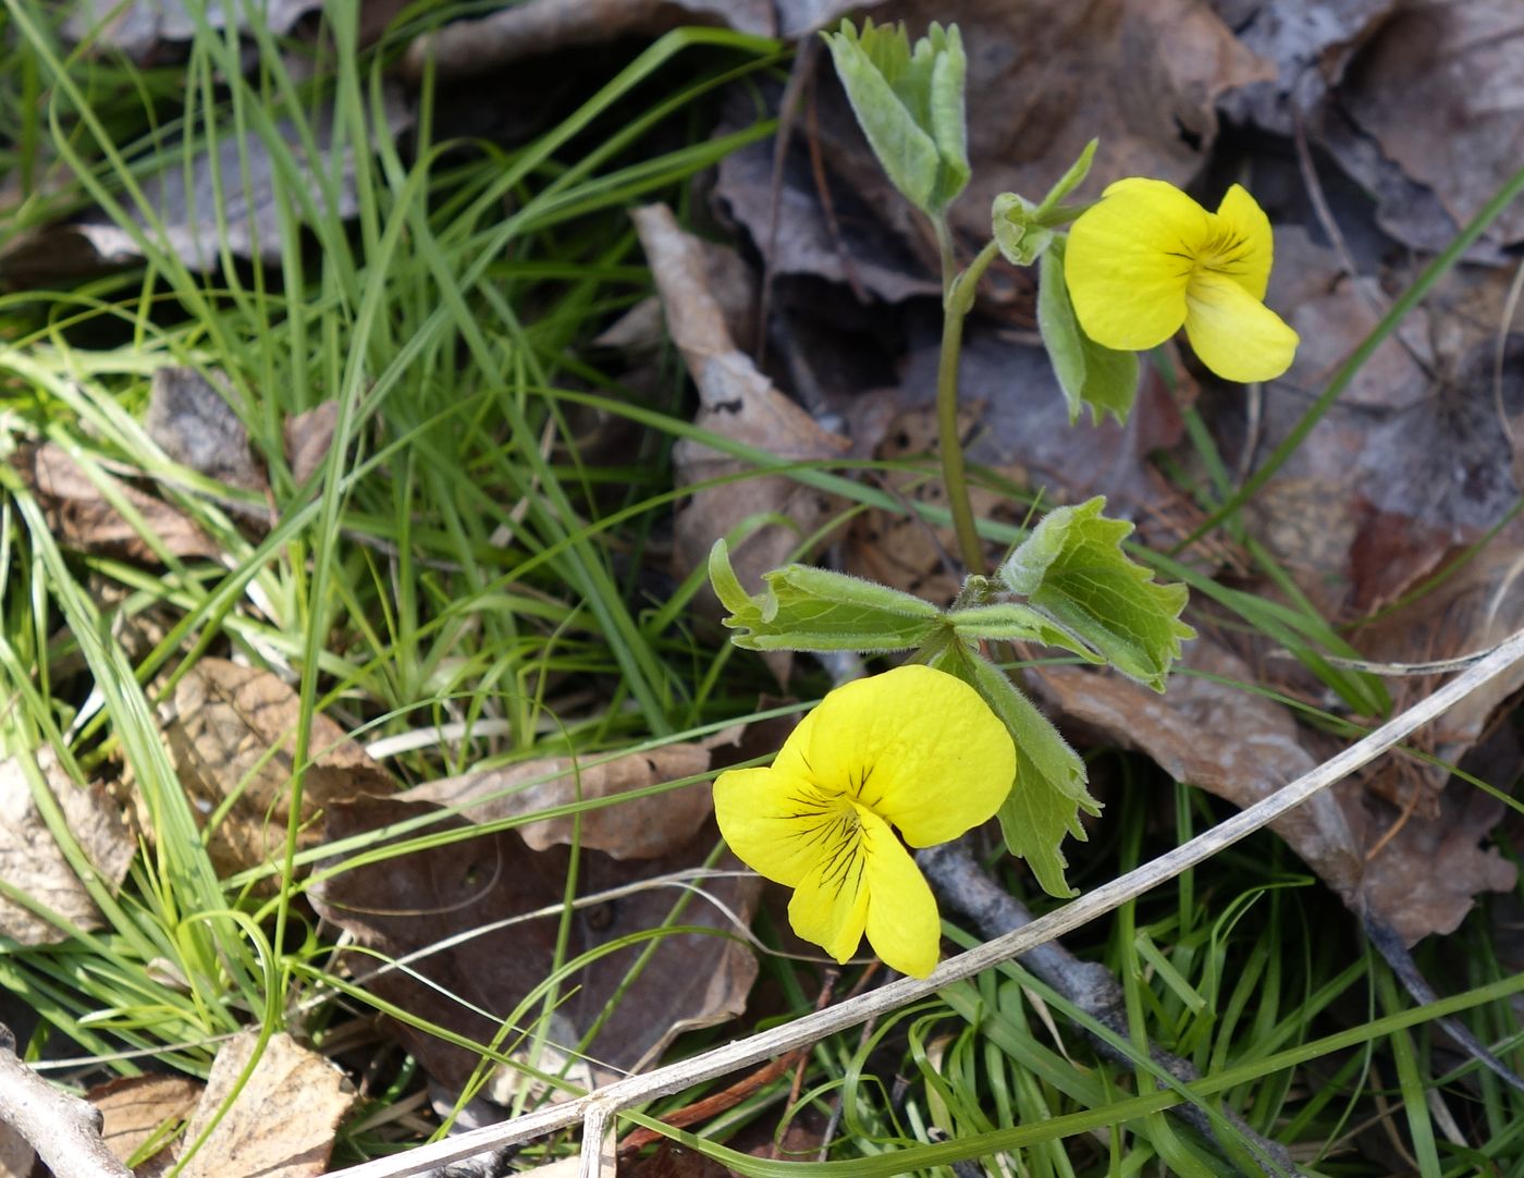
[[[957,838],[1000,809],[1015,774],[1010,735],[978,692],[911,664],[837,687],[773,768],[719,774],[715,817],[736,855],[794,888],[800,937],[846,962],[866,931],[887,965],[927,977],[942,925],[899,835]]]

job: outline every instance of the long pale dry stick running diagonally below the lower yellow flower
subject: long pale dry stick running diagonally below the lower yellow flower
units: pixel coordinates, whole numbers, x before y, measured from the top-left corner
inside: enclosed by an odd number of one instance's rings
[[[1524,631],[1500,643],[1492,654],[1426,699],[1420,699],[1362,741],[1352,744],[1343,753],[1330,757],[1289,785],[1282,786],[1262,802],[1256,802],[1248,809],[1239,811],[1231,818],[1213,826],[1210,831],[1204,831],[1189,843],[1145,863],[1126,875],[1113,879],[1109,884],[1102,884],[1093,892],[1087,892],[1062,908],[1055,908],[1036,917],[1024,928],[986,942],[968,952],[960,952],[957,957],[949,957],[928,978],[901,978],[864,994],[850,1003],[841,1003],[840,1006],[805,1015],[782,1027],[773,1027],[739,1042],[716,1047],[692,1059],[683,1059],[654,1071],[616,1080],[607,1088],[600,1088],[576,1100],[538,1108],[533,1112],[526,1112],[501,1125],[488,1125],[459,1137],[451,1137],[447,1141],[419,1146],[407,1154],[376,1158],[360,1166],[351,1166],[346,1170],[335,1170],[334,1175],[335,1178],[405,1178],[407,1175],[422,1173],[430,1167],[448,1161],[459,1161],[488,1149],[497,1149],[515,1141],[527,1141],[555,1129],[564,1129],[588,1117],[594,1111],[594,1106],[599,1109],[597,1116],[607,1120],[610,1109],[629,1108],[631,1105],[654,1100],[660,1096],[669,1096],[693,1084],[724,1076],[738,1068],[751,1067],[783,1052],[791,1052],[796,1047],[818,1042],[828,1035],[861,1026],[870,1018],[898,1010],[908,1003],[936,994],[943,986],[974,977],[991,966],[1027,952],[1038,945],[1045,945],[1065,933],[1071,933],[1096,917],[1122,907],[1129,899],[1173,879],[1189,867],[1205,863],[1219,850],[1268,826],[1286,811],[1300,806],[1314,794],[1343,780],[1362,765],[1370,763],[1413,733],[1414,728],[1443,715],[1460,699],[1465,699],[1484,683],[1497,678],[1521,660],[1524,660]]]

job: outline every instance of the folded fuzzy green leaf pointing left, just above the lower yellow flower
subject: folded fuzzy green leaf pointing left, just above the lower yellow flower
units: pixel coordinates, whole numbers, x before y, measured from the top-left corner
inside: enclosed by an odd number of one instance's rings
[[[764,573],[767,588],[751,596],[724,539],[709,550],[709,579],[730,610],[724,625],[742,631],[730,640],[747,651],[905,651],[943,625],[931,602],[802,564]]]

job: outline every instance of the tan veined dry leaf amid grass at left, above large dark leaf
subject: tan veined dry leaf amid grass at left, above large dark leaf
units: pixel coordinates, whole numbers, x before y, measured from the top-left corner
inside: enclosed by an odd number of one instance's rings
[[[297,693],[268,671],[203,658],[175,684],[174,696],[160,703],[158,715],[198,817],[236,792],[207,843],[218,870],[236,872],[277,856],[290,814]],[[326,716],[312,718],[309,754],[302,846],[319,841],[312,820],[334,797],[390,788],[386,771]]]

